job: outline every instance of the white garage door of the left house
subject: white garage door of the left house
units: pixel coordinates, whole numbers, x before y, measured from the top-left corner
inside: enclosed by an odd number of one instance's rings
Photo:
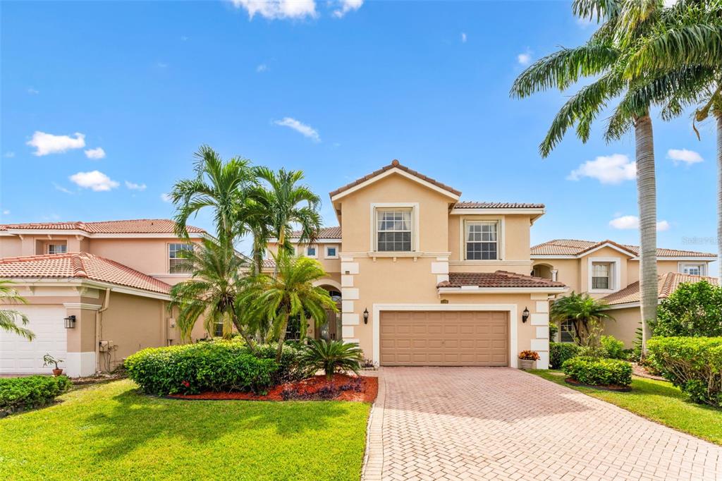
[[[43,356],[50,354],[66,360],[67,334],[63,324],[66,316],[60,306],[4,306],[27,314],[30,323],[25,326],[35,334],[28,341],[17,334],[0,331],[0,374],[49,373],[43,368]],[[64,365],[60,365],[64,368]]]

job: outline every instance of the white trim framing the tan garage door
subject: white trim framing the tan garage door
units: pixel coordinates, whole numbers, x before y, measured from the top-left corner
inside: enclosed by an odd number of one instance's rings
[[[518,306],[516,304],[373,304],[373,363],[380,364],[381,311],[506,311],[509,313],[509,366],[517,367]]]

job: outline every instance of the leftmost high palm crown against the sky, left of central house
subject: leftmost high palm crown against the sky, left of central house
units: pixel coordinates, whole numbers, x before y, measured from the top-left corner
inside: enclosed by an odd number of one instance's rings
[[[208,145],[201,145],[193,157],[196,157],[196,177],[176,182],[170,192],[170,199],[178,208],[176,233],[187,239],[188,218],[204,207],[212,207],[218,238],[232,242],[241,229],[238,209],[255,182],[251,163],[240,157],[223,162]]]

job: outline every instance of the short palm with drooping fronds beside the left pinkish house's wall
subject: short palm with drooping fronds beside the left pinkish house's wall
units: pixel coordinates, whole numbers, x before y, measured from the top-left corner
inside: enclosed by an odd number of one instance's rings
[[[240,308],[238,296],[247,279],[242,268],[245,259],[229,243],[205,238],[199,246],[183,251],[191,279],[179,282],[170,289],[169,309],[178,308],[178,329],[184,342],[191,339],[193,326],[204,316],[204,328],[212,333],[217,324],[223,324],[224,337],[230,337],[232,327],[238,330],[253,351],[248,317]]]

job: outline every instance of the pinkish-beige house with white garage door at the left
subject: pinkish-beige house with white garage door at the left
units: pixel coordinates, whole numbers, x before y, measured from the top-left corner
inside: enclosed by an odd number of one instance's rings
[[[9,307],[27,314],[37,336],[28,342],[0,332],[0,374],[48,372],[50,353],[65,360],[69,376],[89,376],[144,347],[177,343],[167,308],[170,286],[189,278],[178,256],[189,246],[174,227],[170,220],[0,225],[0,279],[28,301]],[[188,233],[193,242],[205,235]]]

